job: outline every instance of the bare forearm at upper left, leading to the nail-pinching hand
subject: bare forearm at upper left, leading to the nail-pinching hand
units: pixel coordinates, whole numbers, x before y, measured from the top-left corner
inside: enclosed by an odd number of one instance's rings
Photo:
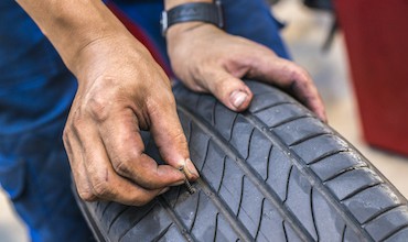
[[[83,48],[99,40],[128,34],[100,0],[17,0],[75,74]]]

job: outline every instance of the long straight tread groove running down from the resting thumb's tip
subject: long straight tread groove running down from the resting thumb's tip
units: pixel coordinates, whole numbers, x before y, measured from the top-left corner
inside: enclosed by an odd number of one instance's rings
[[[260,121],[257,117],[248,114],[244,114],[244,117],[246,120],[248,120],[249,123],[251,123],[255,128],[257,128],[260,131],[262,131],[262,128],[266,127],[265,123]],[[284,151],[291,157],[292,164],[298,167],[299,172],[303,174],[303,177],[305,177],[308,180],[310,180],[311,184],[313,184],[314,188],[318,189],[319,193],[326,199],[326,201],[333,206],[333,209],[339,212],[340,217],[343,218],[346,223],[353,226],[353,231],[362,234],[363,238],[372,239],[368,232],[359,227],[359,223],[354,218],[354,216],[350,211],[344,211],[343,205],[339,201],[339,199],[336,199],[335,195],[328,187],[325,187],[324,184],[321,183],[318,175],[304,164],[303,160],[299,157],[294,151],[287,147],[282,139],[279,138],[272,129],[269,129],[269,131],[270,131],[269,133],[264,133],[264,135],[267,136],[272,142],[275,142],[278,147]],[[350,151],[350,148],[346,150]],[[331,153],[339,153],[339,151]]]

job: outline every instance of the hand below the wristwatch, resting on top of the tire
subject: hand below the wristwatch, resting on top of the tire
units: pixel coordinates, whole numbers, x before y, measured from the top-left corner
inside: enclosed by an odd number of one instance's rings
[[[192,90],[211,92],[229,109],[243,111],[253,94],[240,78],[254,78],[287,90],[326,121],[308,73],[268,47],[197,22],[173,25],[167,40],[173,70]]]

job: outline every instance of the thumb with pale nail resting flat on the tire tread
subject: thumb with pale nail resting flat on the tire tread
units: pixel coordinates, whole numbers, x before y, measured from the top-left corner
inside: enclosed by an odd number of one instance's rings
[[[233,111],[246,110],[253,100],[248,86],[225,70],[213,74],[206,81],[206,88]]]

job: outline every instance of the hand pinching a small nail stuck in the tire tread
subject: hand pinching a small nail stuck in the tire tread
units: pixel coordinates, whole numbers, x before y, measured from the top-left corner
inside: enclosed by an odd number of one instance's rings
[[[198,174],[190,161],[171,85],[150,53],[130,34],[96,40],[78,54],[78,91],[64,144],[80,198],[140,206]],[[144,154],[140,130],[150,130],[169,165]]]

